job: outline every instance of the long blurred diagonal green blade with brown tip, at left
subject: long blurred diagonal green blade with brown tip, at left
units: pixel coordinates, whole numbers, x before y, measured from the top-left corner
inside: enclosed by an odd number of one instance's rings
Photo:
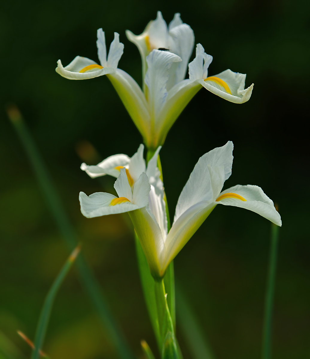
[[[55,218],[61,236],[64,238],[69,250],[72,251],[73,248],[77,246],[78,241],[75,236],[74,229],[71,226],[68,216],[61,204],[60,197],[58,196],[58,193],[48,174],[47,168],[45,167],[43,159],[34,144],[31,134],[29,133],[18,108],[16,106],[10,106],[7,108],[7,112],[28,155],[29,162],[31,163],[33,171],[37,176],[37,180],[46,198],[51,214]],[[82,286],[89,295],[93,306],[96,308],[100,320],[106,328],[111,342],[117,350],[120,358],[133,358],[124,336],[116,325],[114,318],[108,309],[101,287],[82,254],[79,258],[77,258],[76,266],[79,271]]]

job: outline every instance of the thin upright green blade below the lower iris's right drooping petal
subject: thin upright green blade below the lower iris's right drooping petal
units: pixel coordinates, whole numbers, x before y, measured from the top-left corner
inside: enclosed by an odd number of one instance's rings
[[[272,312],[273,312],[273,300],[274,300],[274,286],[276,283],[278,238],[279,238],[279,227],[276,224],[272,223],[270,252],[269,252],[269,268],[268,268],[267,288],[266,288],[266,297],[265,297],[262,359],[271,358]]]

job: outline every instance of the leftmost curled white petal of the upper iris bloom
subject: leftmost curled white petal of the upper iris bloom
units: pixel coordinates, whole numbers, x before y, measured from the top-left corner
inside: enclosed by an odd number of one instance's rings
[[[85,80],[85,79],[93,79],[98,76],[110,74],[114,72],[114,69],[110,67],[103,67],[100,69],[95,67],[92,70],[89,70],[84,73],[80,73],[84,67],[89,65],[98,65],[95,61],[88,59],[87,57],[76,56],[73,61],[70,62],[69,65],[63,67],[61,61],[57,61],[56,72],[69,80]],[[99,65],[98,65],[99,66]]]

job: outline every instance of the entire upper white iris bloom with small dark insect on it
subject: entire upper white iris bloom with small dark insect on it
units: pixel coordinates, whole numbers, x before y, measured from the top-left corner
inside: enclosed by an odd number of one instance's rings
[[[253,84],[244,89],[245,74],[225,70],[208,76],[213,58],[204,52],[202,45],[196,46],[196,57],[188,64],[194,48],[194,32],[182,22],[179,13],[167,26],[158,11],[156,20],[149,22],[141,35],[130,31],[126,35],[137,45],[142,57],[143,90],[129,74],[117,68],[124,49],[119,34],[115,33],[106,56],[102,29],[97,31],[100,65],[77,56],[65,67],[58,60],[56,71],[72,80],[107,75],[148,149],[155,150],[164,143],[177,117],[202,87],[230,102],[249,100]],[[187,70],[189,79],[185,79]]]

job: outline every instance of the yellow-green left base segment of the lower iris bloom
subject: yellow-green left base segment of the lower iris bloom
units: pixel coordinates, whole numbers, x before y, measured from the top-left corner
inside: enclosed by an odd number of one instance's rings
[[[138,234],[153,276],[160,278],[165,257],[165,244],[161,230],[148,207],[128,213]]]

